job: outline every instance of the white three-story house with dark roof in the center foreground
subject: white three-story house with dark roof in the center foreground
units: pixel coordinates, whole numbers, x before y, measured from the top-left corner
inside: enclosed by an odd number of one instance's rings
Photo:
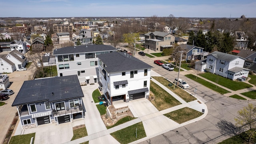
[[[100,54],[99,85],[108,105],[116,100],[148,98],[152,66],[125,52]]]

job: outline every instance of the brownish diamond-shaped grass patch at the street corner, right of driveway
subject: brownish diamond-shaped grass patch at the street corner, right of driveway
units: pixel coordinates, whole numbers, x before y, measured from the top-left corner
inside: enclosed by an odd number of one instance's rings
[[[197,110],[193,110],[188,107],[164,114],[164,116],[167,116],[168,118],[174,120],[175,122],[178,122],[179,124],[182,124],[189,120],[193,120],[194,118],[202,115],[202,112],[198,112]]]

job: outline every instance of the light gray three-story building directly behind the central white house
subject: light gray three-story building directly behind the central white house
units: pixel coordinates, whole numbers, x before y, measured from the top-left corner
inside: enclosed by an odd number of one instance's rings
[[[94,84],[98,78],[98,55],[115,52],[108,45],[68,46],[53,50],[58,76],[77,75],[80,83]]]

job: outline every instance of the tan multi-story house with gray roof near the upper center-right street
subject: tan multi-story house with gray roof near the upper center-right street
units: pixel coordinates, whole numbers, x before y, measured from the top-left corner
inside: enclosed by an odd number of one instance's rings
[[[145,48],[154,51],[163,51],[165,48],[172,48],[175,36],[167,32],[148,32],[145,36]]]

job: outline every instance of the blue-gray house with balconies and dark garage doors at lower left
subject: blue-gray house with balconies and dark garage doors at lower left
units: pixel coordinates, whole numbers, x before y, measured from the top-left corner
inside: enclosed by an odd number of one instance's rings
[[[12,106],[22,129],[84,118],[84,94],[77,75],[25,81]]]

